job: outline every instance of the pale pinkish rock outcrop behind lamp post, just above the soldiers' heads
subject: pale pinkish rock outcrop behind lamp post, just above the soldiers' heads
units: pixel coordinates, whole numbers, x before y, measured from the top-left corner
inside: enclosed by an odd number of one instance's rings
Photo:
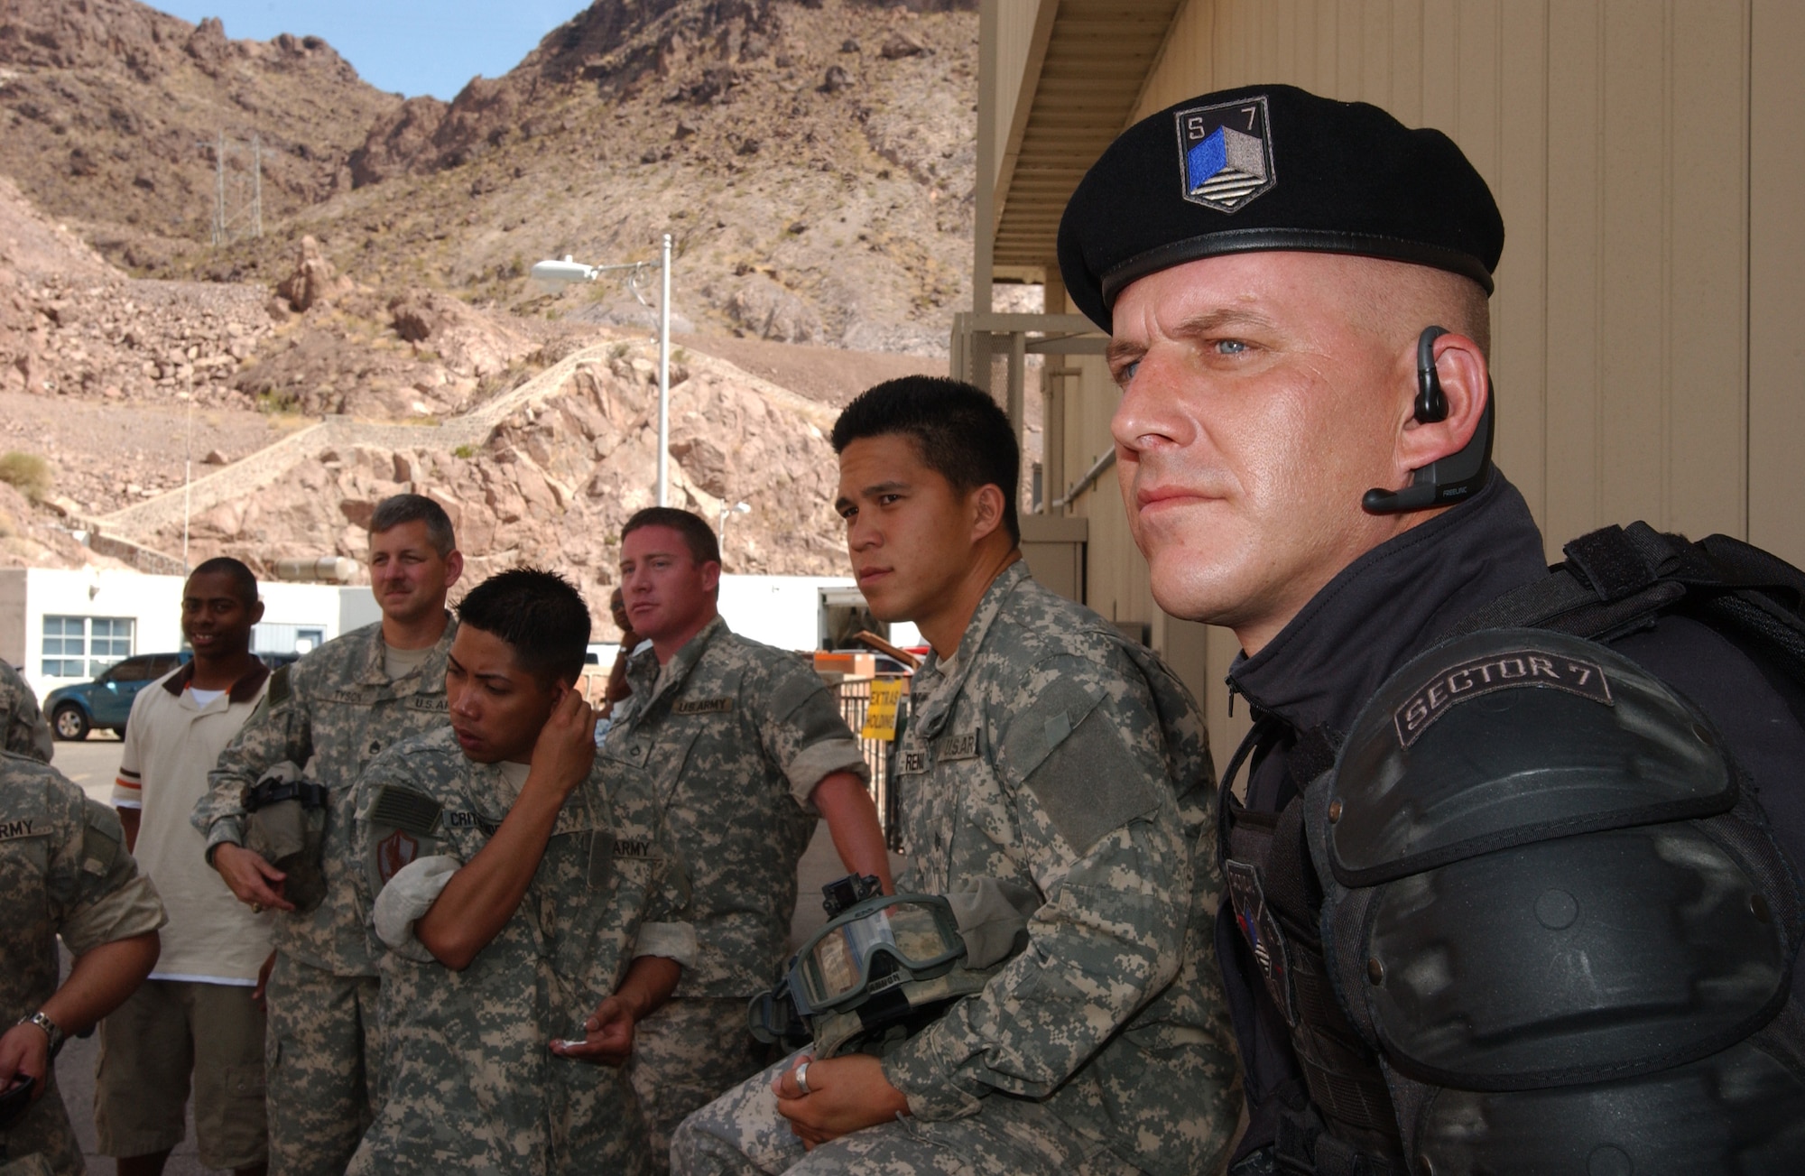
[[[260,570],[283,557],[361,559],[375,503],[403,491],[439,500],[471,575],[520,563],[572,575],[590,604],[619,581],[621,523],[655,501],[655,348],[619,339],[592,348],[487,438],[446,449],[430,431],[329,446],[291,469],[276,492],[226,494],[191,521],[191,557],[253,552]],[[717,521],[744,501],[724,537],[729,572],[843,575],[832,510],[834,411],[706,355],[684,355],[671,390],[671,500]],[[144,536],[180,543],[175,521]],[[475,583],[475,579],[471,581]],[[606,615],[603,610],[597,615]]]

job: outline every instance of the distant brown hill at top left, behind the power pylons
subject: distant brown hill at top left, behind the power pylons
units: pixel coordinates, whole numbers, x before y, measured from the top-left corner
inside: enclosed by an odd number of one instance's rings
[[[137,0],[0,0],[0,171],[130,260],[130,242],[211,236],[215,148],[236,207],[260,139],[265,224],[352,184],[347,159],[393,114],[316,36],[233,41]]]

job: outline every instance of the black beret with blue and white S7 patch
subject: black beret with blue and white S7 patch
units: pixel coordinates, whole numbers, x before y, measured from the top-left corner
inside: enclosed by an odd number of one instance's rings
[[[1504,218],[1442,132],[1273,85],[1141,119],[1085,173],[1060,220],[1065,289],[1105,330],[1137,278],[1269,249],[1446,269],[1491,294]]]

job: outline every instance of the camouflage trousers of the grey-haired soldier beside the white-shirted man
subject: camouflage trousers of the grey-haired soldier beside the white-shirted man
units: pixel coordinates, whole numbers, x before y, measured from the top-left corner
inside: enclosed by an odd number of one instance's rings
[[[276,954],[269,974],[269,1172],[339,1176],[375,1116],[375,976]]]

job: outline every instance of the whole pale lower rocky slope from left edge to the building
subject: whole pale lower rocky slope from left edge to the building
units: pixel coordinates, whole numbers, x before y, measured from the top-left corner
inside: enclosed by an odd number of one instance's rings
[[[939,361],[680,343],[675,503],[704,518],[747,503],[726,537],[733,572],[838,574],[823,433],[857,390]],[[357,557],[374,503],[412,489],[446,503],[477,574],[549,563],[599,608],[614,536],[653,498],[655,350],[639,330],[431,290],[384,303],[307,247],[276,294],[128,278],[0,180],[0,565],[114,563],[78,530],[170,557],[182,510],[139,509],[182,501],[188,476],[190,561],[269,574]],[[296,446],[319,420],[348,440]],[[42,460],[45,483],[9,485],[13,455]]]

